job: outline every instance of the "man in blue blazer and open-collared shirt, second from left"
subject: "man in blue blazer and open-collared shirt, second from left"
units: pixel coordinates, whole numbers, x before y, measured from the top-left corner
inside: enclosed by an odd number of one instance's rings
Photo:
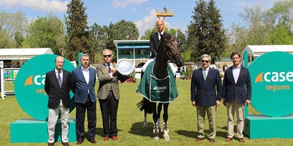
[[[84,118],[87,110],[87,123],[89,140],[96,143],[96,70],[89,67],[89,56],[81,56],[81,67],[74,69],[71,73],[72,91],[76,103],[76,137],[77,144],[84,142]]]

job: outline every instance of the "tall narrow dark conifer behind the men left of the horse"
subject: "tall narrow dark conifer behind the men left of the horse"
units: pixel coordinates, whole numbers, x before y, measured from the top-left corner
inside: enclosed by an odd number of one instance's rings
[[[94,35],[88,30],[84,2],[72,0],[67,5],[67,8],[68,59],[78,60],[78,52],[86,53],[93,57]]]

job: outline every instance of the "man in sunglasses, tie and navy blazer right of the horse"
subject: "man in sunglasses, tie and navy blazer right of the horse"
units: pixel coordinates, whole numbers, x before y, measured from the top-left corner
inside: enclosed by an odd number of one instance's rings
[[[196,141],[205,138],[204,125],[206,112],[209,119],[209,142],[215,142],[216,136],[216,107],[220,105],[222,84],[220,72],[209,68],[211,57],[202,55],[202,68],[194,70],[191,78],[191,104],[197,110]],[[217,92],[216,92],[217,90]]]

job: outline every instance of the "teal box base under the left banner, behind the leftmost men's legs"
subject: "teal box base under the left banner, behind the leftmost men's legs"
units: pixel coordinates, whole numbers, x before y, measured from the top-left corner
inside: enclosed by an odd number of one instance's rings
[[[20,119],[10,123],[11,143],[47,143],[48,122],[37,119]],[[75,118],[69,119],[69,142],[76,141]],[[57,121],[55,127],[55,141],[61,141],[61,120]]]

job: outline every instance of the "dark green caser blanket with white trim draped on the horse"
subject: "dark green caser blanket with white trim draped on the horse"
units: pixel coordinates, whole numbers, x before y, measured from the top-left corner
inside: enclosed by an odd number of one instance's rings
[[[171,67],[168,65],[168,76],[164,79],[158,79],[153,74],[155,61],[152,61],[146,67],[146,71],[141,79],[136,92],[140,93],[150,102],[169,103],[178,96],[175,77]]]

